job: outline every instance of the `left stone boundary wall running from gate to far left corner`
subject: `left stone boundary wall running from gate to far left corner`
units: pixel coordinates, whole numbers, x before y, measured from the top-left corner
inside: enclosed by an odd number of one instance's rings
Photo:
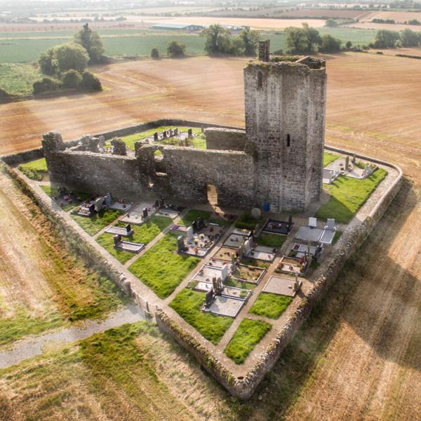
[[[39,195],[25,180],[25,178],[15,171],[13,168],[8,166],[7,163],[0,162],[0,168],[4,168],[6,173],[18,183],[22,192],[29,196],[34,203],[41,209],[46,215],[46,218],[53,224],[57,234],[65,242],[65,244],[71,249],[76,255],[79,255],[85,260],[88,265],[91,265],[97,272],[107,276],[116,286],[128,297],[132,298],[136,304],[138,304],[145,315],[153,319],[154,314],[149,312],[148,303],[131,288],[131,283],[126,279],[123,273],[119,272],[107,258],[105,258],[99,251],[92,246],[88,241],[88,234],[84,232],[81,234],[78,230],[72,226],[72,223],[67,221],[66,218],[61,215],[61,210],[56,210],[51,206],[51,201]],[[76,224],[76,222],[75,222]],[[87,238],[84,238],[84,237]]]

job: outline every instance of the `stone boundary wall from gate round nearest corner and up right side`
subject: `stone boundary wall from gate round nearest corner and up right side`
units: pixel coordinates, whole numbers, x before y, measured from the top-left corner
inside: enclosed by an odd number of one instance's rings
[[[326,147],[326,149],[341,154],[349,154],[343,149],[334,147]],[[398,176],[382,195],[374,208],[370,211],[368,217],[361,222],[361,224],[347,229],[342,234],[338,241],[335,250],[330,255],[328,260],[324,262],[324,270],[318,279],[314,282],[314,286],[307,296],[302,300],[295,313],[290,316],[290,319],[285,326],[277,333],[276,338],[267,347],[266,351],[260,354],[258,361],[255,363],[248,373],[243,377],[234,377],[232,372],[228,370],[208,348],[201,345],[195,338],[192,337],[186,330],[178,326],[175,321],[171,319],[163,310],[157,310],[155,314],[156,323],[163,332],[171,335],[182,347],[192,352],[196,359],[201,363],[201,366],[213,375],[221,385],[228,390],[229,393],[238,397],[241,400],[249,399],[265,375],[269,373],[276,361],[279,359],[281,352],[288,345],[290,340],[294,337],[297,330],[302,326],[302,323],[307,319],[312,311],[312,307],[316,302],[319,302],[326,290],[335,282],[338,274],[344,267],[345,262],[351,257],[353,253],[366,240],[377,222],[382,218],[382,215],[387,210],[387,207],[396,196],[401,188],[403,173],[401,168],[394,166],[385,161],[372,159],[368,156],[356,155],[360,159],[367,159],[385,166],[394,168],[398,172]]]

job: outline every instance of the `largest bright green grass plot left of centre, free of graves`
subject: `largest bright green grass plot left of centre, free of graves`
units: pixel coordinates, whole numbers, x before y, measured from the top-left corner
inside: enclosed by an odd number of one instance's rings
[[[179,255],[177,236],[166,234],[128,269],[159,298],[167,298],[199,261],[199,258]]]

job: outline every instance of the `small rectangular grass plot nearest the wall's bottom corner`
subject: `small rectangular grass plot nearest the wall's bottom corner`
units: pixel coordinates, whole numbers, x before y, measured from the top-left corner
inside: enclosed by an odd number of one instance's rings
[[[236,364],[243,363],[270,328],[272,325],[265,321],[243,319],[225,348],[225,355]]]

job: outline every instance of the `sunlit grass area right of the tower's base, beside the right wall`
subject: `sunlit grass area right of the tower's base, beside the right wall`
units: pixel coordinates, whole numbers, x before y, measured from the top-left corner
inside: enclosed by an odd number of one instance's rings
[[[377,168],[364,180],[340,175],[332,184],[323,186],[331,197],[319,208],[316,217],[335,218],[336,222],[347,224],[386,175],[387,171],[383,168]]]

